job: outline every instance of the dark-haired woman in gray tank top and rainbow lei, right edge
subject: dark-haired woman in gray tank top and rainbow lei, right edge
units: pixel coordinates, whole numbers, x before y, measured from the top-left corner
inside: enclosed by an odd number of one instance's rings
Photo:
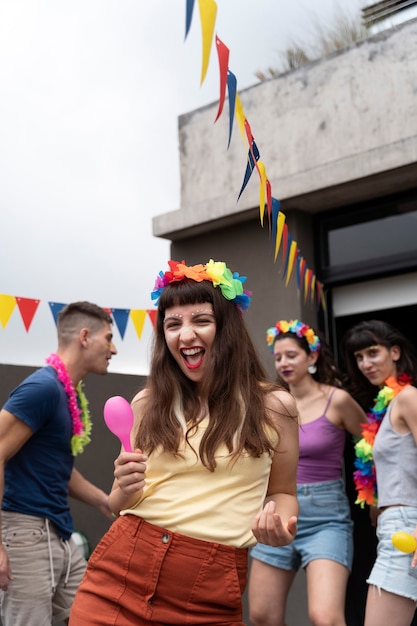
[[[377,557],[367,579],[365,626],[409,626],[417,602],[417,551],[392,535],[417,539],[417,357],[396,328],[360,322],[343,339],[358,399],[373,408],[356,443],[357,504],[377,511]],[[375,516],[376,517],[376,516]]]

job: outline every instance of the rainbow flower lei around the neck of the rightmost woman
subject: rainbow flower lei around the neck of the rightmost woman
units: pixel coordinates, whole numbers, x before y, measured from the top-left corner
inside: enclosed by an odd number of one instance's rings
[[[365,504],[376,506],[378,503],[376,472],[372,456],[376,434],[387,412],[389,403],[400,391],[408,387],[410,382],[411,378],[407,374],[401,374],[398,380],[394,376],[387,378],[384,386],[378,392],[373,408],[367,413],[368,422],[361,424],[362,438],[355,444],[356,459],[354,466],[356,470],[353,472],[353,480],[358,492],[355,504],[359,504],[362,508],[364,508]]]

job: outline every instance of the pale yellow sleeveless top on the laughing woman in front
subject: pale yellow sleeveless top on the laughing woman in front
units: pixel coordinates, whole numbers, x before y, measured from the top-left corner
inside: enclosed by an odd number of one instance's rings
[[[207,425],[208,418],[190,437],[194,450]],[[254,545],[251,525],[263,507],[271,457],[242,454],[231,460],[227,448],[219,449],[210,472],[185,442],[181,454],[155,451],[149,456],[141,499],[121,515],[138,515],[173,532],[236,548]]]

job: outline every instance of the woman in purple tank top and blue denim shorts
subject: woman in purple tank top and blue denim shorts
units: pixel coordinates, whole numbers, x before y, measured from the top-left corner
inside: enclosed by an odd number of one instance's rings
[[[300,567],[307,576],[311,624],[345,626],[353,556],[353,523],[342,479],[346,432],[358,437],[366,415],[342,388],[328,344],[299,320],[266,333],[279,380],[295,398],[300,421],[298,531],[291,545],[259,542],[251,551],[252,626],[284,626],[286,603]]]

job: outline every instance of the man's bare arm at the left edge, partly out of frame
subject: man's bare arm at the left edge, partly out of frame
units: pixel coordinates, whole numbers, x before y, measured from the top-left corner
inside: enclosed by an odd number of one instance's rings
[[[0,509],[3,502],[5,465],[32,435],[32,429],[22,420],[5,409],[0,411]],[[12,578],[7,552],[3,543],[0,543],[0,589],[7,591],[8,582]]]

